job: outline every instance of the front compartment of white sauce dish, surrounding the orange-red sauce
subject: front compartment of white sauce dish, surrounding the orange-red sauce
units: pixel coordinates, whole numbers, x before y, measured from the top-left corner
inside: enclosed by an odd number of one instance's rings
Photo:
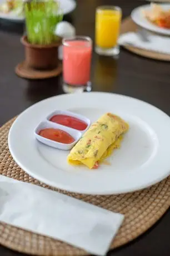
[[[62,131],[67,132],[69,135],[71,135],[74,138],[74,141],[71,144],[64,144],[61,142],[53,141],[50,139],[47,139],[45,137],[42,137],[39,135],[39,131],[43,129],[48,129],[48,128],[53,128],[53,129],[59,129]],[[62,149],[62,150],[70,150],[72,147],[78,142],[79,139],[82,137],[82,133],[78,130],[74,130],[72,128],[69,128],[67,126],[59,125],[56,124],[55,122],[51,122],[48,120],[42,121],[34,130],[34,135],[36,136],[36,139],[43,144],[46,144],[51,147],[55,147],[56,149]]]

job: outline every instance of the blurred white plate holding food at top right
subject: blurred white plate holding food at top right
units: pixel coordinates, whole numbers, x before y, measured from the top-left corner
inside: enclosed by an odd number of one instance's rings
[[[170,9],[170,4],[160,4],[165,10]],[[141,26],[143,28],[148,29],[149,31],[152,32],[156,32],[156,33],[161,33],[162,35],[170,35],[170,29],[166,29],[166,28],[161,28],[158,27],[154,24],[152,24],[152,22],[149,22],[142,14],[142,10],[143,9],[150,9],[151,5],[150,4],[146,4],[144,6],[139,6],[137,8],[135,8],[132,13],[131,13],[131,18],[133,19],[133,21],[138,24],[138,26]]]

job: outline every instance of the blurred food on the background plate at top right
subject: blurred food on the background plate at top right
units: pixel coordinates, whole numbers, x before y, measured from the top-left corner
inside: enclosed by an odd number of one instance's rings
[[[144,17],[158,27],[170,29],[170,9],[164,10],[159,4],[151,3],[151,9],[142,10]]]

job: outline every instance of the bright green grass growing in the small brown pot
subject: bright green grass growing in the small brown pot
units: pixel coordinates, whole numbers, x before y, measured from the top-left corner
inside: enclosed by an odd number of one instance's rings
[[[26,2],[24,4],[27,38],[29,43],[49,45],[55,43],[58,37],[54,34],[58,22],[63,15],[59,5],[54,0]]]

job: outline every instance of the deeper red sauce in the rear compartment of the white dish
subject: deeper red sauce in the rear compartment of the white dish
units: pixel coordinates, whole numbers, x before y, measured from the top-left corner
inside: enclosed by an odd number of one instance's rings
[[[49,121],[57,122],[57,124],[71,127],[73,129],[83,131],[87,128],[86,122],[83,122],[76,117],[67,115],[54,115],[49,119]]]

